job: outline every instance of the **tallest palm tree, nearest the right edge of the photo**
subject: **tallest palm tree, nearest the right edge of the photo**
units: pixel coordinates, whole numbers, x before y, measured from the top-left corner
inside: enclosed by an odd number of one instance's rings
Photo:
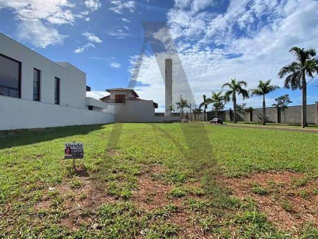
[[[315,58],[316,50],[314,48],[309,48],[305,50],[304,48],[292,47],[289,52],[291,52],[296,61],[289,65],[286,65],[280,69],[278,72],[278,77],[285,78],[285,88],[291,88],[293,91],[300,89],[303,94],[302,102],[302,127],[307,126],[307,82],[306,75],[309,77],[314,77],[313,73],[318,73],[318,59]]]

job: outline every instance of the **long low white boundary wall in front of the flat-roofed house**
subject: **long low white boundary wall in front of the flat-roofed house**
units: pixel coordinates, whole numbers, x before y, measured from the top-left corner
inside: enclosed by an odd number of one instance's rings
[[[114,122],[114,114],[0,96],[0,130]]]

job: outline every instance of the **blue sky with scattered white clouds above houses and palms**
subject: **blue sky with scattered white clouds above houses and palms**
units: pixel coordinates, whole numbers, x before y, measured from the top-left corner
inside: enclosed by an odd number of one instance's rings
[[[128,86],[144,40],[142,22],[165,21],[199,104],[231,77],[247,81],[248,89],[268,79],[283,86],[277,72],[293,60],[288,49],[318,49],[317,9],[316,0],[0,0],[0,31],[86,72],[89,96],[98,98],[106,88]],[[164,85],[150,46],[137,80],[139,95],[162,111]],[[308,103],[318,101],[315,85],[309,84]],[[280,89],[267,105],[283,94],[301,103],[300,91]],[[259,97],[245,102],[261,107]]]

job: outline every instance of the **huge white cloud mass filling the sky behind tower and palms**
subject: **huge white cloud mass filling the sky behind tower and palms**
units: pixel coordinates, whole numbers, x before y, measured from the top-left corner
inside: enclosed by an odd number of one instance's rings
[[[223,14],[193,13],[189,2],[178,3],[167,17],[197,105],[203,94],[210,96],[212,91],[221,90],[231,77],[247,81],[248,89],[255,88],[258,80],[268,79],[283,86],[277,72],[293,60],[288,49],[294,45],[318,48],[318,1],[315,0],[280,3],[233,0]],[[261,17],[266,17],[267,22]],[[206,26],[208,29],[204,29]],[[235,28],[240,29],[241,34],[238,35]],[[162,60],[160,62],[162,64]],[[177,77],[177,72],[172,75]],[[144,57],[137,80],[141,86],[136,91],[141,98],[155,100],[161,110],[164,82],[154,56]],[[177,89],[179,85],[172,88]],[[176,99],[178,96],[174,95],[174,101]],[[241,102],[239,98],[239,104]],[[261,99],[257,97],[246,102],[249,106],[261,106]],[[267,105],[272,103],[273,99],[268,96]],[[233,108],[231,103],[227,107]]]

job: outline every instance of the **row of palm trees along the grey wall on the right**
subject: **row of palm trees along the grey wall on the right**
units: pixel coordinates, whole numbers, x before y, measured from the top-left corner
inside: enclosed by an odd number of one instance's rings
[[[279,72],[278,77],[284,79],[284,87],[291,90],[301,90],[302,91],[302,127],[307,126],[307,85],[318,75],[318,57],[314,48],[304,49],[299,47],[290,48],[289,52],[294,55],[295,60],[283,66]],[[316,74],[316,75],[315,75]],[[310,80],[307,81],[306,77]],[[204,113],[204,120],[206,121],[206,111],[209,105],[213,106],[215,111],[215,117],[218,118],[218,112],[223,110],[226,103],[232,101],[233,111],[234,111],[234,123],[237,123],[237,112],[239,111],[245,115],[251,112],[253,109],[251,107],[246,108],[246,104],[238,105],[237,98],[242,97],[243,100],[249,98],[250,96],[262,96],[262,124],[266,124],[266,102],[265,95],[273,92],[279,87],[277,85],[272,85],[271,80],[258,82],[258,86],[250,91],[246,90],[247,83],[243,80],[237,80],[231,78],[230,82],[223,84],[222,90],[226,90],[225,94],[220,92],[212,92],[211,98],[207,98],[203,95],[203,101],[199,105],[199,108],[194,109],[192,112],[194,116],[197,114]],[[286,123],[285,110],[288,105],[292,103],[289,95],[283,95],[275,99],[276,104],[272,106],[279,107],[284,113],[284,119]],[[180,114],[183,115],[184,108],[190,108],[188,101],[180,98],[179,102],[176,102],[177,109],[180,109]],[[203,108],[203,109],[202,109]],[[168,111],[174,112],[174,106],[171,105]]]

